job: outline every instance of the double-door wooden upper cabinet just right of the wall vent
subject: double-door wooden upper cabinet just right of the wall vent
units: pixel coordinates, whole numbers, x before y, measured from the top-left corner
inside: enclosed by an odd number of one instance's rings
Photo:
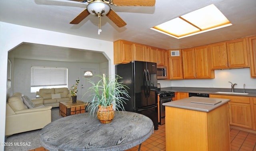
[[[182,50],[183,78],[214,78],[208,45]]]

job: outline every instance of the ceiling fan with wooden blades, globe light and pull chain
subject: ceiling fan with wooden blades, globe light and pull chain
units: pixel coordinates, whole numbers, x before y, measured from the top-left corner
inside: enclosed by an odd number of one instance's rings
[[[84,18],[92,14],[99,18],[98,34],[101,32],[101,16],[107,16],[118,27],[123,27],[126,22],[116,14],[112,6],[154,6],[156,0],[72,0],[76,2],[87,2],[88,5],[70,24],[79,24]]]

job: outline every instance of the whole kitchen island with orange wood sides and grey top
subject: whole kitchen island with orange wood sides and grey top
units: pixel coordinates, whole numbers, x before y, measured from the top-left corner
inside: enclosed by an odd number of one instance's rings
[[[164,103],[166,151],[230,151],[229,101],[193,96]]]

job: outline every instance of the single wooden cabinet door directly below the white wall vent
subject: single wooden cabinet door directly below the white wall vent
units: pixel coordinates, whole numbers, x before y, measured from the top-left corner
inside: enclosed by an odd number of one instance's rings
[[[168,77],[169,79],[182,79],[182,58],[169,57],[168,58]]]

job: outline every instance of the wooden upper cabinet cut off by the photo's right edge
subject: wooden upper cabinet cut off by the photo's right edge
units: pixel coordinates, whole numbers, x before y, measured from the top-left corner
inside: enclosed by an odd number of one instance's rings
[[[250,47],[250,71],[251,77],[256,78],[256,36],[249,37],[249,47]],[[256,113],[256,110],[255,110]]]

